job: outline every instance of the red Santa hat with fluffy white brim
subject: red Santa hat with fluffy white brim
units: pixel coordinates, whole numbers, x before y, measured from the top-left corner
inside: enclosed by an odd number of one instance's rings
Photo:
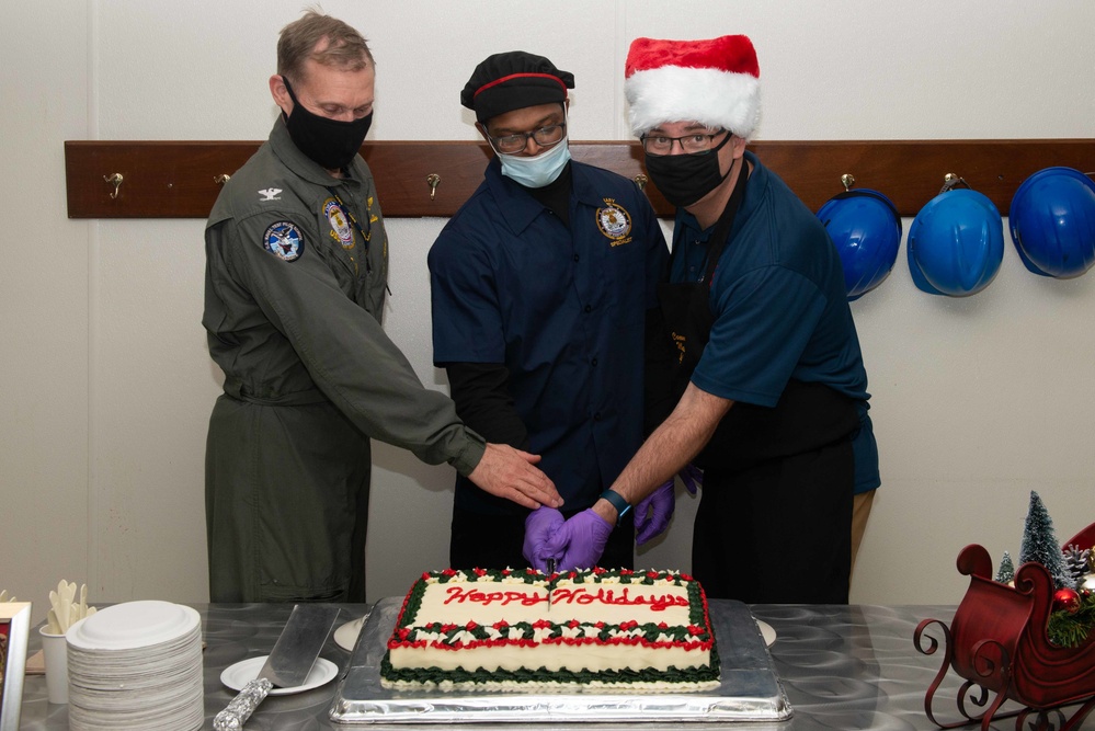
[[[627,52],[624,93],[631,132],[696,121],[749,139],[761,118],[761,69],[743,35],[710,41],[636,38]]]

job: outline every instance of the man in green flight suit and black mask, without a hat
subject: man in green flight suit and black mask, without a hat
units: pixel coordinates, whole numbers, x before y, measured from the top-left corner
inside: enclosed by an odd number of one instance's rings
[[[558,506],[538,456],[486,444],[381,329],[388,245],[357,156],[375,65],[346,23],[288,25],[270,78],[283,114],[205,231],[213,602],[364,602],[369,439],[448,462],[484,491]]]

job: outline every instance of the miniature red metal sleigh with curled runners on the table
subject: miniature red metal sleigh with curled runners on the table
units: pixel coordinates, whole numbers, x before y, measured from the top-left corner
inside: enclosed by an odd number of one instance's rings
[[[1064,545],[1095,545],[1095,523]],[[978,545],[961,550],[958,571],[970,578],[970,585],[950,627],[938,619],[925,619],[913,636],[920,652],[934,654],[938,640],[925,637],[924,630],[938,625],[947,646],[939,672],[924,696],[928,719],[945,729],[980,721],[981,729],[988,731],[994,719],[1010,717],[1017,717],[1015,728],[1019,729],[1035,713],[1038,729],[1049,728],[1051,716],[1061,720],[1061,731],[1079,728],[1095,707],[1095,633],[1075,648],[1050,643],[1046,627],[1053,609],[1053,580],[1049,571],[1027,562],[1015,572],[1014,587],[999,583],[993,581],[989,552]],[[965,720],[943,723],[936,720],[932,703],[949,667],[966,678],[957,695]],[[995,694],[991,703],[990,693]],[[1005,700],[1023,708],[997,715]],[[984,710],[971,712],[967,701]],[[1076,704],[1081,704],[1079,709],[1068,717],[1063,707]]]

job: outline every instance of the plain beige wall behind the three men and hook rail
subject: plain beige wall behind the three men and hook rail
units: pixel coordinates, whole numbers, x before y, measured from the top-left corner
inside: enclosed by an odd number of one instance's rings
[[[274,39],[303,4],[0,7],[0,587],[36,618],[61,578],[100,602],[206,599],[203,454],[220,387],[199,323],[203,221],[67,219],[62,142],[264,138]],[[1090,137],[1095,118],[1095,4],[1080,0],[323,4],[372,41],[374,139],[472,139],[459,89],[512,48],[577,75],[574,139],[627,139],[631,38],[738,32],[760,54],[762,139]],[[976,171],[945,172],[977,186]],[[443,222],[390,221],[386,320],[438,389],[424,262]],[[963,545],[1017,553],[1029,490],[1061,539],[1095,519],[1095,275],[1036,277],[1008,242],[986,290],[935,298],[904,255],[853,306],[883,476],[853,599],[949,603]],[[370,599],[444,564],[452,477],[377,447]],[[640,563],[687,569],[695,502]],[[788,581],[809,570],[803,556]]]

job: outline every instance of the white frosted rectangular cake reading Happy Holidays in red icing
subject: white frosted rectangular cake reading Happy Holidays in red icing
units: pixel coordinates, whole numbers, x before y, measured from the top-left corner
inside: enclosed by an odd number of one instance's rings
[[[673,571],[424,573],[380,665],[395,689],[672,693],[718,678],[707,598]]]

